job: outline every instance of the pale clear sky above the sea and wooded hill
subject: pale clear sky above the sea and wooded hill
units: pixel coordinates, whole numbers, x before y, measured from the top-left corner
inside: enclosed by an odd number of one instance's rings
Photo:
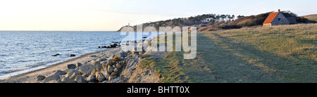
[[[116,31],[208,13],[317,13],[316,0],[0,0],[0,30]]]

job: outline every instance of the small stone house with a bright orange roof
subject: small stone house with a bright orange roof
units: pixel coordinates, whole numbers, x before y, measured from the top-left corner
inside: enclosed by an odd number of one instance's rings
[[[286,18],[280,13],[280,9],[278,9],[278,12],[270,13],[270,15],[268,15],[268,18],[263,22],[263,26],[290,25],[296,23],[296,18]]]

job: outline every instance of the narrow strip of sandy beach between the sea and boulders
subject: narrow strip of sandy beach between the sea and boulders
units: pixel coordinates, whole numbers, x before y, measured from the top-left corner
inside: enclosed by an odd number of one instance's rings
[[[96,51],[92,53],[86,53],[77,58],[66,60],[61,63],[56,63],[54,65],[50,65],[40,70],[26,72],[20,75],[14,75],[12,77],[0,79],[0,83],[39,83],[42,81],[36,80],[38,75],[44,75],[47,77],[50,75],[54,75],[54,73],[57,72],[58,70],[62,70],[62,71],[66,70],[66,67],[69,64],[75,64],[75,63],[84,64],[85,62],[96,60],[97,58],[101,58],[101,57],[111,58],[111,56],[113,56],[113,54],[117,53],[118,51],[120,51],[120,48],[112,48],[112,49],[106,49],[106,50]]]

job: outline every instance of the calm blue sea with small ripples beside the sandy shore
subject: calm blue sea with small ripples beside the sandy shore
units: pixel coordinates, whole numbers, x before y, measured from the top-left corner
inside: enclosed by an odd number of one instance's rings
[[[0,79],[104,50],[120,32],[0,31]],[[60,56],[52,56],[60,53]]]

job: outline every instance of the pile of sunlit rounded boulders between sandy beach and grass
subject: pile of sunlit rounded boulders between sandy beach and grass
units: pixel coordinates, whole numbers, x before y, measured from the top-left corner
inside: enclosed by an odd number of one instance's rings
[[[112,58],[98,58],[89,63],[76,63],[66,66],[65,71],[58,70],[54,75],[44,77],[39,75],[37,81],[42,83],[87,83],[87,82],[111,82],[120,76],[122,68],[126,65],[128,53],[120,51]]]

